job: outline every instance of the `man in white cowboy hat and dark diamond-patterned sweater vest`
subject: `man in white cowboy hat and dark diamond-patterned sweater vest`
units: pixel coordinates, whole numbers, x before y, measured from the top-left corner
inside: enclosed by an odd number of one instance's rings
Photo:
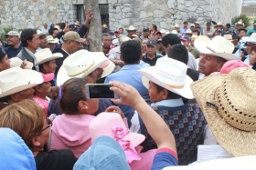
[[[179,165],[194,162],[197,145],[202,144],[206,121],[197,104],[187,105],[182,101],[182,97],[194,98],[190,89],[193,80],[187,75],[187,65],[172,58],[162,57],[157,60],[155,66],[144,67],[139,73],[144,75],[142,81],[149,90],[151,107],[165,120],[176,137]],[[144,149],[155,148],[155,143],[147,135],[140,117],[133,115],[131,122],[133,132],[146,135]],[[187,136],[187,140],[184,140],[183,136]]]

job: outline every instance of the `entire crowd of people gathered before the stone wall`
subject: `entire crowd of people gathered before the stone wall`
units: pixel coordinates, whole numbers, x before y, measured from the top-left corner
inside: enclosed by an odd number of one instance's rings
[[[1,169],[160,170],[201,164],[200,145],[255,168],[256,23],[130,25],[128,35],[104,24],[91,52],[85,15],[1,41]],[[87,84],[118,98],[89,98]]]

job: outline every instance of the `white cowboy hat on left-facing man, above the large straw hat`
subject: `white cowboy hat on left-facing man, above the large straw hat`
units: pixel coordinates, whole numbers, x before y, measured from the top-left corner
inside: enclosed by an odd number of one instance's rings
[[[227,61],[239,60],[236,55],[232,54],[235,46],[222,36],[215,36],[210,40],[205,35],[199,35],[194,45],[203,54],[219,56]]]

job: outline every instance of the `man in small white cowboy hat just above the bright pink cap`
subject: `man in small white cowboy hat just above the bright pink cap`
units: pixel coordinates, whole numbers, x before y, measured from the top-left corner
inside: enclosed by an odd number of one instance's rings
[[[49,48],[45,48],[36,53],[36,65],[39,66],[39,72],[43,74],[54,74],[56,70],[55,59],[63,57],[61,53],[52,54]],[[51,85],[56,85],[56,78],[50,82]]]

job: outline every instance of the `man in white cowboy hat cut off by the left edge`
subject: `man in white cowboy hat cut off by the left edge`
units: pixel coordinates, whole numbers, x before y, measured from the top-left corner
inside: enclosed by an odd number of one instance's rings
[[[0,72],[0,98],[7,96],[8,105],[33,98],[33,86],[43,83],[40,73],[20,67]],[[0,108],[2,109],[2,108]]]

